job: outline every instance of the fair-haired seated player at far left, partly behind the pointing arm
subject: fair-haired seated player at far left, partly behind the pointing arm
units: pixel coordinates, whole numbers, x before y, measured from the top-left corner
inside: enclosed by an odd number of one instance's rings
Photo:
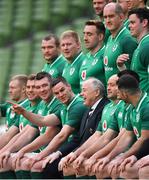
[[[28,105],[28,100],[26,100],[26,75],[16,75],[10,79],[9,83],[9,97],[11,100],[18,102],[22,106],[26,107]],[[4,147],[9,140],[18,133],[18,129],[14,128],[13,124],[17,119],[19,119],[19,115],[15,114],[11,110],[11,105],[9,103],[0,105],[0,114],[2,117],[6,117],[6,124],[8,127],[7,132],[0,136],[0,149]]]

